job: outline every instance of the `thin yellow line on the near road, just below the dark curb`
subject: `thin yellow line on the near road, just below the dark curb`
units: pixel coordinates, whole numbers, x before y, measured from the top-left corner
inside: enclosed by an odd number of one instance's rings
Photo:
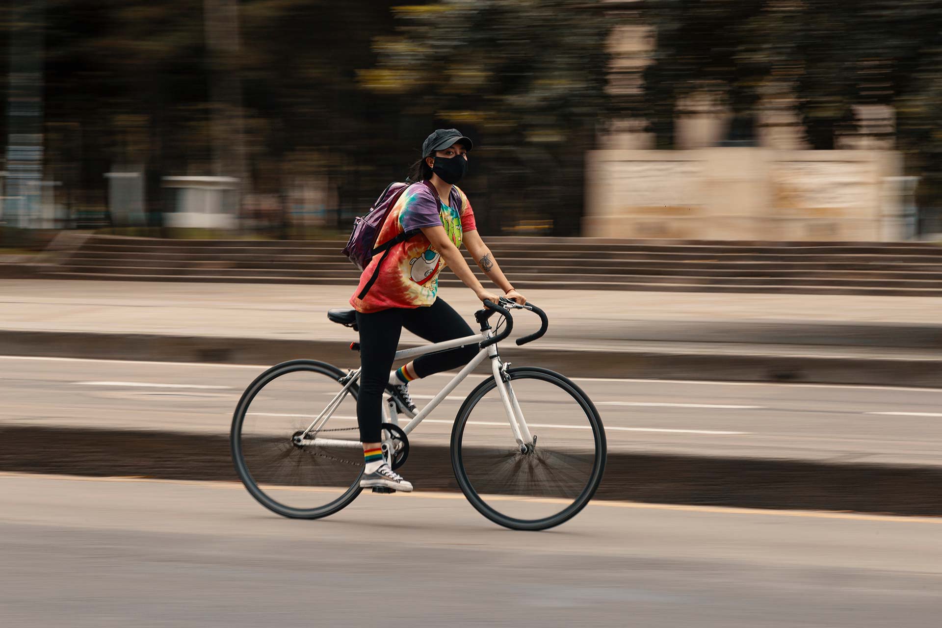
[[[54,475],[54,474],[25,474],[17,472],[0,472],[2,478],[26,478],[26,479],[46,479],[46,480],[64,480],[73,482],[147,482],[151,484],[173,484],[180,486],[198,486],[208,489],[239,490],[245,488],[239,482],[226,482],[214,480],[169,480],[158,479],[154,477],[144,477],[140,475]],[[299,492],[339,492],[337,489],[328,489],[320,487],[266,487],[277,491],[299,491]],[[464,495],[458,492],[436,492],[436,491],[413,491],[397,492],[394,498],[408,499],[464,499]],[[383,496],[383,498],[388,498]],[[541,504],[569,504],[570,500],[554,497],[515,497],[512,495],[488,495],[487,499],[493,501],[523,501]],[[685,506],[680,504],[647,504],[643,502],[616,502],[607,500],[595,500],[590,507],[609,507],[609,508],[635,508],[640,510],[677,510],[681,512],[706,512],[714,514],[741,514],[741,515],[762,515],[769,517],[799,517],[804,519],[844,519],[850,521],[873,521],[885,523],[935,523],[942,524],[942,517],[906,517],[901,515],[874,515],[862,514],[857,512],[842,512],[830,510],[772,510],[770,508],[743,508],[743,507],[724,507],[724,506]]]

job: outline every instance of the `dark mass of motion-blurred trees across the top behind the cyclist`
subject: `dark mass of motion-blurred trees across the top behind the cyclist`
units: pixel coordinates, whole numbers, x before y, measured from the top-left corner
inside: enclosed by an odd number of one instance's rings
[[[773,103],[820,149],[856,132],[858,105],[885,105],[910,172],[942,181],[942,0],[399,1],[238,0],[242,45],[225,59],[203,2],[49,3],[47,142],[71,146],[47,155],[72,164],[56,176],[103,207],[103,173],[144,164],[159,209],[162,176],[212,172],[212,81],[229,72],[254,189],[326,175],[341,222],[404,176],[430,130],[457,126],[478,140],[465,186],[483,232],[549,218],[578,233],[597,130],[628,115],[671,148],[694,94],[732,113],[726,143],[754,142]],[[645,89],[612,97],[609,34],[628,20],[656,27],[655,49]]]

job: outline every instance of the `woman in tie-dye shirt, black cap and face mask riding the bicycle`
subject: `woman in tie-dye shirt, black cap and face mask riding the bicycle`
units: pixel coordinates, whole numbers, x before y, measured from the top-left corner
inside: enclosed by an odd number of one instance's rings
[[[422,158],[410,171],[409,181],[413,183],[386,217],[376,241],[382,244],[399,233],[418,233],[396,244],[384,261],[382,256],[375,256],[349,301],[356,310],[360,329],[362,369],[357,421],[366,465],[361,487],[413,489],[382,457],[383,391],[391,395],[399,411],[414,416],[410,381],[462,366],[478,353],[477,345],[461,346],[421,356],[392,370],[403,327],[432,343],[474,335],[462,316],[438,298],[438,275],[445,266],[450,266],[479,299],[497,302],[497,296],[486,290],[468,267],[459,247],[464,244],[507,298],[521,305],[527,302],[507,281],[480,239],[471,203],[455,185],[467,173],[468,152],[473,146],[457,129],[438,129],[426,137]],[[376,279],[369,284],[374,273]]]

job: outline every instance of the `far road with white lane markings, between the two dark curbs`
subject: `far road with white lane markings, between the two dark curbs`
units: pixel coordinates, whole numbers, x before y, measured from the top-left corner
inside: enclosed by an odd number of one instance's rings
[[[239,395],[265,368],[0,356],[0,424],[225,435]],[[447,443],[464,396],[483,377],[475,374],[465,380],[411,439]],[[938,464],[942,455],[942,390],[576,381],[602,414],[609,449],[915,464]],[[421,406],[446,382],[446,376],[414,382],[416,401]],[[322,391],[324,403],[330,390]],[[502,421],[499,404],[494,407],[490,418]],[[537,406],[534,413],[560,429],[577,423],[551,403]],[[352,418],[337,421],[353,425]]]

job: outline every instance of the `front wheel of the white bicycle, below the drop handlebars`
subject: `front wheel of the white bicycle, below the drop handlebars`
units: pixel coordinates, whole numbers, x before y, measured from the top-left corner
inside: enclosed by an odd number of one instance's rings
[[[606,440],[592,401],[570,379],[543,368],[507,371],[531,437],[513,437],[495,378],[468,395],[451,432],[451,464],[471,505],[515,530],[544,530],[589,503],[605,470]]]

